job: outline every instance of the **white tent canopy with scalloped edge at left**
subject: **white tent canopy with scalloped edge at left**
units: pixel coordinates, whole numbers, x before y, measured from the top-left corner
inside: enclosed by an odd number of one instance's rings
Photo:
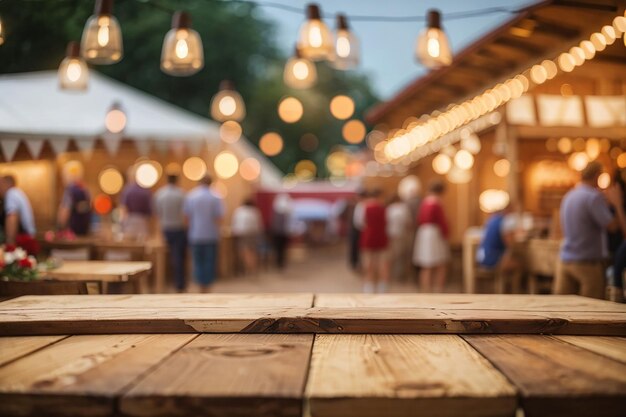
[[[57,152],[70,139],[88,149],[106,135],[104,117],[113,103],[127,116],[124,139],[138,149],[154,144],[184,142],[189,149],[220,144],[219,125],[147,93],[90,71],[87,91],[61,90],[56,71],[0,76],[0,142],[5,158],[12,159],[20,141],[29,149],[41,149],[47,140]],[[106,142],[106,141],[105,141]],[[245,138],[227,145],[239,158],[254,157],[261,163],[261,185],[281,184],[280,171]],[[117,147],[108,148],[115,153]]]

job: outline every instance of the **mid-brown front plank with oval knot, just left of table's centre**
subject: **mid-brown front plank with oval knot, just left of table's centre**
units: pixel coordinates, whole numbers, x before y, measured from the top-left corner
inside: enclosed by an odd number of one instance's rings
[[[301,416],[313,335],[205,334],[120,401],[129,416]]]

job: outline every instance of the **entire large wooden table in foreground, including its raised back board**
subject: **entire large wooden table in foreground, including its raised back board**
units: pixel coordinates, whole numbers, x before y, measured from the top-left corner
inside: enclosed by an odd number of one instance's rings
[[[625,316],[577,296],[20,297],[0,303],[0,415],[617,417]],[[562,334],[511,334],[533,328]]]

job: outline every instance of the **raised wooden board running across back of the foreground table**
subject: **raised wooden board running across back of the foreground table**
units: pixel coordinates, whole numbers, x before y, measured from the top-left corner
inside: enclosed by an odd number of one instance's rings
[[[439,296],[424,297],[424,307],[408,307],[406,301],[395,303],[393,298],[388,298],[386,306],[310,307],[310,294],[21,297],[0,303],[0,334],[242,332],[626,336],[626,306],[615,303],[582,297],[526,296],[528,301],[524,306],[524,296],[477,297],[476,302],[472,301],[475,295],[458,299],[450,296],[450,301]],[[429,299],[434,300],[430,305]],[[511,308],[507,309],[509,301]],[[372,301],[372,304],[378,303]]]

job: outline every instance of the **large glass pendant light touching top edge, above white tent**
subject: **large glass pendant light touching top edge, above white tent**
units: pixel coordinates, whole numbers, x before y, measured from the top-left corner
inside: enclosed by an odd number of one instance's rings
[[[122,59],[122,31],[112,12],[113,0],[96,0],[94,14],[85,23],[81,52],[89,63],[115,64]]]

